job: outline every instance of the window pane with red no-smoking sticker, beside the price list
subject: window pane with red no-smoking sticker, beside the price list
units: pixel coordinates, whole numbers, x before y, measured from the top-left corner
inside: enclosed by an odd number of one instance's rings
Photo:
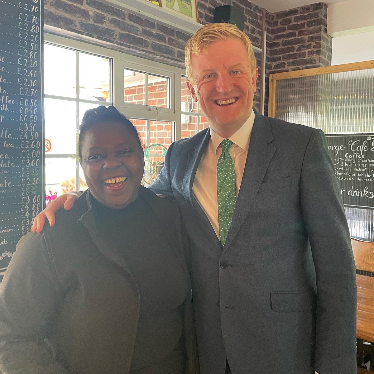
[[[46,155],[75,154],[77,134],[76,103],[48,99],[45,103]],[[49,149],[47,151],[47,149]]]

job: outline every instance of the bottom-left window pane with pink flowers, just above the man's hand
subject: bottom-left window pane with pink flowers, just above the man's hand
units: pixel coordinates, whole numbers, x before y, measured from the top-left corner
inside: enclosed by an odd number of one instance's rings
[[[69,181],[73,180],[75,182],[76,160],[62,157],[46,157],[45,162],[46,202],[49,202],[50,199],[48,196],[52,196],[53,199],[53,196],[60,196],[62,193],[70,190],[68,184],[71,182]]]

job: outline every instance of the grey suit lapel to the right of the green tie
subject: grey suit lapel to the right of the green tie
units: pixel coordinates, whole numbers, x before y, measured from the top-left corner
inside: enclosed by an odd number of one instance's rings
[[[269,144],[273,140],[274,137],[269,121],[266,117],[255,111],[255,121],[251,133],[242,184],[236,199],[234,215],[223,251],[226,251],[229,247],[251,210],[258,189],[276,150],[276,148]]]

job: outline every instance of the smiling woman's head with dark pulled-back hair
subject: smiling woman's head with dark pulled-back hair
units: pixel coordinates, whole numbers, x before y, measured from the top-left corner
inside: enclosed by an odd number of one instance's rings
[[[116,108],[86,111],[78,153],[86,183],[102,205],[122,209],[134,201],[144,172],[144,156],[134,125]]]

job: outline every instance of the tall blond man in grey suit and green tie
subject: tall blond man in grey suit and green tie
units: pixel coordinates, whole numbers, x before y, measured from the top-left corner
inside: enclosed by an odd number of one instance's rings
[[[356,373],[355,265],[323,132],[252,110],[258,69],[233,25],[200,28],[186,71],[209,128],[169,147],[151,188],[190,236],[202,374]]]

